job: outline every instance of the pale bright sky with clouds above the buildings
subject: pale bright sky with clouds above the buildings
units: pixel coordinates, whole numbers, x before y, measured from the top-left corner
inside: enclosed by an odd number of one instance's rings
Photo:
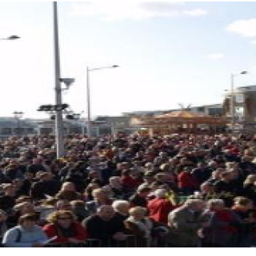
[[[178,103],[222,102],[230,87],[256,84],[256,2],[94,0],[58,2],[63,94],[86,113],[86,66],[92,115],[165,110]],[[52,2],[0,2],[0,116],[54,103]],[[86,114],[84,114],[86,116]]]

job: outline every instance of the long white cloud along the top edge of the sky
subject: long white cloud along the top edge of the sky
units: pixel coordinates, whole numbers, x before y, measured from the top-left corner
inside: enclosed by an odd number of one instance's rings
[[[70,14],[74,16],[98,16],[104,20],[140,20],[158,17],[202,16],[206,10],[186,10],[183,2],[173,0],[94,0],[91,2],[76,2],[71,7]]]

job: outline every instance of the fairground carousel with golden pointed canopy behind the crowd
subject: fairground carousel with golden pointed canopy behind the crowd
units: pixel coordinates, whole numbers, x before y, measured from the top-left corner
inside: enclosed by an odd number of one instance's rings
[[[138,127],[141,133],[153,136],[174,133],[218,134],[226,131],[229,122],[225,117],[178,110],[155,117],[134,117],[130,123]]]

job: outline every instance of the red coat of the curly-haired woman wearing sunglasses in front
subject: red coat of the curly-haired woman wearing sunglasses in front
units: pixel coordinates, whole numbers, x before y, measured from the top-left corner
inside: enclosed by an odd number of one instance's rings
[[[74,228],[76,231],[76,235],[73,238],[78,239],[81,242],[84,242],[87,238],[86,230],[84,230],[82,225],[78,222],[74,222]],[[46,232],[48,238],[54,238],[55,236],[58,237],[57,239],[55,239],[53,241],[54,243],[68,243],[69,242],[68,238],[62,238],[59,236],[56,226],[54,224],[47,224],[42,229]]]

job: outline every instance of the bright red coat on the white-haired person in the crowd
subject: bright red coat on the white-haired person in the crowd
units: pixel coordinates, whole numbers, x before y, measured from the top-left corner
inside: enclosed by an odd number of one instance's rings
[[[155,222],[165,224],[167,224],[168,214],[174,208],[171,202],[164,198],[154,198],[147,203],[147,209],[150,212],[149,217],[154,219]]]

